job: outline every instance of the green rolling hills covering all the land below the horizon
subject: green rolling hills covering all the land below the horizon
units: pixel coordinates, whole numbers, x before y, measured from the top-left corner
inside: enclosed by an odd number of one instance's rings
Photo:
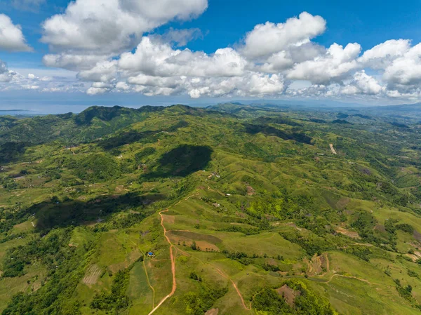
[[[0,311],[420,314],[416,116],[0,116]]]

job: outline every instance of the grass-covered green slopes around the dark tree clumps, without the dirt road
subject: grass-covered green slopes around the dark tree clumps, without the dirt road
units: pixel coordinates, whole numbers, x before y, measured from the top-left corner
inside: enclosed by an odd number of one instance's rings
[[[236,119],[172,107],[163,112],[148,113],[147,119],[117,131],[110,141],[105,138],[79,144],[72,149],[66,149],[57,142],[29,147],[1,174],[15,176],[9,182],[17,184],[1,189],[3,220],[11,220],[6,213],[25,211],[36,203],[45,204],[41,208],[33,208],[34,217],[29,217],[31,209],[22,218],[13,219],[16,220],[15,227],[4,232],[2,237],[5,241],[1,243],[0,255],[6,257],[6,248],[25,244],[40,232],[45,234],[51,227],[62,229],[65,225],[77,224],[80,227],[73,230],[69,243],[76,244],[78,250],[86,247],[84,263],[79,266],[81,274],[87,276],[88,267],[93,264],[98,266],[101,274],[94,284],[83,283],[84,276],[79,279],[70,301],[79,301],[81,314],[107,314],[107,311],[90,307],[95,292],[111,292],[116,272],[132,266],[127,288],[131,306],[122,314],[148,314],[153,305],[171,291],[169,247],[163,238],[156,211],[180,200],[166,213],[164,220],[166,229],[174,232],[171,241],[175,246],[178,290],[156,314],[186,314],[189,311],[186,308],[189,293],[203,293],[206,288],[227,288],[227,293],[212,305],[220,309],[220,314],[250,314],[244,309],[232,281],[248,306],[263,287],[279,287],[286,279],[305,281],[316,293],[328,299],[340,314],[419,312],[411,306],[411,302],[399,296],[393,281],[399,279],[402,286],[410,284],[413,297],[421,302],[420,279],[408,276],[408,269],[421,274],[421,268],[405,259],[408,250],[416,252],[420,246],[414,236],[397,232],[396,250],[392,250],[370,242],[370,239],[333,236],[327,232],[327,236],[321,236],[321,239],[328,237],[333,240],[332,248],[323,249],[329,266],[326,262],[321,263],[323,266],[312,264],[312,255],[307,253],[306,248],[281,236],[298,232],[311,243],[320,242],[320,236],[310,232],[314,226],[306,226],[302,220],[309,215],[314,220],[327,218],[327,224],[322,223],[323,226],[331,224],[345,231],[359,232],[352,223],[356,214],[361,212],[373,215],[375,224],[384,225],[386,219],[393,218],[421,232],[415,199],[406,206],[397,205],[393,201],[394,194],[386,194],[379,189],[380,182],[390,182],[395,176],[399,179],[395,189],[400,194],[409,192],[408,187],[419,186],[416,176],[419,170],[408,163],[418,157],[418,152],[410,149],[410,142],[417,140],[416,136],[392,130],[379,135],[368,132],[363,125],[339,126],[303,121],[298,121],[302,124],[298,128],[314,138],[313,145],[263,133],[245,133],[242,123],[253,123],[255,116],[260,114],[247,112],[243,114],[243,119]],[[279,115],[276,112],[265,114]],[[294,118],[306,119],[305,115],[290,113]],[[321,114],[319,118],[326,119],[326,114]],[[180,124],[180,121],[185,123]],[[295,132],[292,128],[296,128],[276,123],[270,126],[288,132]],[[378,122],[376,126],[378,132],[384,131],[382,123]],[[129,131],[135,132],[136,137],[126,137]],[[392,148],[383,147],[381,141],[394,141],[396,137],[400,138],[405,150],[391,154]],[[338,155],[330,153],[329,143],[333,143]],[[203,165],[204,171],[194,169],[181,181],[180,177],[169,173],[156,177],[161,174],[160,156],[183,144],[206,144],[212,148],[209,163]],[[138,161],[136,154],[147,147],[154,147],[156,152]],[[106,154],[108,159],[104,163],[112,161],[112,167],[119,168],[119,173],[99,177],[98,180],[93,180],[95,177],[92,176],[88,177],[91,180],[80,178],[75,167],[81,161],[88,161],[92,154]],[[373,163],[373,156],[376,163]],[[402,161],[397,156],[410,156],[410,159]],[[402,168],[401,165],[405,164],[408,164],[406,168]],[[99,171],[95,168],[91,170],[91,167],[86,164],[87,173],[98,175]],[[180,167],[174,166],[170,172],[178,172]],[[22,170],[26,172],[22,173]],[[370,182],[366,177],[375,181]],[[353,183],[360,188],[352,187]],[[186,186],[185,189],[182,185]],[[128,192],[145,196],[145,202],[127,203],[124,208],[113,203],[112,200]],[[274,206],[270,203],[272,201],[267,200],[269,196],[279,200],[286,195],[295,200],[295,206],[286,203]],[[50,201],[53,196],[57,196],[58,201]],[[300,201],[300,196],[307,196],[311,201],[308,198]],[[81,203],[85,209],[76,222],[72,217],[74,201]],[[155,202],[150,204],[151,201]],[[260,206],[253,206],[253,202],[258,201]],[[278,215],[287,208],[292,212]],[[127,226],[119,225],[124,217],[138,212],[149,216]],[[295,215],[297,213],[302,215]],[[98,217],[104,221],[96,222]],[[263,229],[262,222],[267,222],[269,226]],[[378,232],[374,226],[369,229],[385,240],[389,238],[387,232]],[[245,232],[250,230],[257,230],[258,234],[246,235]],[[7,239],[8,236],[11,240]],[[193,242],[201,250],[192,250],[190,245]],[[94,245],[90,249],[84,243]],[[347,248],[353,246],[368,248],[370,261],[346,253]],[[156,257],[136,262],[142,253],[149,250],[153,250]],[[222,250],[257,257],[245,264],[228,257]],[[276,265],[279,272],[265,270],[267,265]],[[324,269],[314,272],[318,267]],[[385,274],[386,269],[391,269],[390,276]],[[192,271],[201,277],[200,283],[190,279]],[[1,294],[0,309],[5,309],[19,290],[27,293],[38,290],[41,279],[44,282],[49,279],[41,263],[39,267],[25,267],[25,276],[0,279],[0,288],[12,288]],[[149,285],[154,288],[154,293]]]

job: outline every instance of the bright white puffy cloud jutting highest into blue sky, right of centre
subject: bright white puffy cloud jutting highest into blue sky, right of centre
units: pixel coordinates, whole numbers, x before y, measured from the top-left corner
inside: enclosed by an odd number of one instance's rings
[[[326,29],[326,20],[319,15],[301,13],[298,18],[290,18],[285,23],[266,22],[256,25],[246,34],[243,54],[248,58],[268,57],[290,46],[300,46],[322,34]]]

